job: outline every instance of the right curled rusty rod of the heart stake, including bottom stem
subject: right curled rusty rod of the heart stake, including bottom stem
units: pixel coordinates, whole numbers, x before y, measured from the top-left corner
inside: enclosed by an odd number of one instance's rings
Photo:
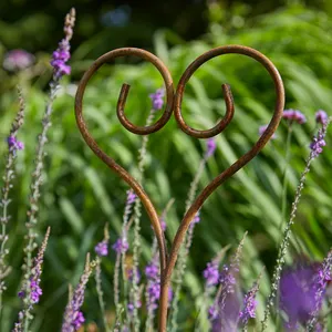
[[[162,276],[162,291],[160,291],[160,303],[159,303],[159,331],[166,331],[166,323],[167,323],[167,315],[164,314],[165,311],[167,311],[168,305],[168,288],[170,282],[172,272],[174,270],[178,252],[180,249],[181,243],[184,242],[186,232],[188,230],[188,227],[190,222],[193,221],[194,217],[196,216],[197,211],[201,208],[205,200],[211,195],[211,193],[219,187],[222,183],[225,183],[229,177],[231,177],[235,173],[237,173],[240,168],[242,168],[246,164],[248,164],[256,155],[263,148],[263,146],[268,143],[268,141],[271,138],[273,133],[276,132],[279,122],[282,117],[283,113],[283,106],[284,106],[284,89],[283,83],[281,80],[281,76],[276,69],[274,64],[262,53],[258,52],[257,50],[253,50],[251,48],[242,46],[242,45],[227,45],[227,46],[220,46],[217,49],[212,49],[203,55],[198,56],[184,72],[183,76],[179,80],[176,95],[175,95],[175,117],[178,122],[179,127],[186,133],[194,137],[211,137],[217,134],[219,134],[229,123],[228,122],[228,115],[226,114],[226,120],[222,121],[215,126],[211,129],[208,131],[197,131],[194,128],[190,128],[181,116],[181,108],[180,104],[183,101],[183,95],[185,91],[186,83],[189,81],[191,75],[195,73],[195,71],[203,65],[208,60],[222,55],[222,54],[229,54],[229,53],[236,53],[236,54],[242,54],[246,56],[250,56],[258,62],[260,62],[269,72],[271,75],[277,100],[274,105],[274,113],[272,116],[271,122],[269,123],[266,132],[261,135],[261,137],[258,139],[258,142],[253,145],[253,147],[246,153],[243,156],[241,156],[237,162],[235,162],[230,167],[228,167],[226,170],[224,170],[220,175],[218,175],[214,180],[208,184],[205,189],[198,195],[198,197],[195,199],[188,211],[186,212],[184,219],[181,220],[181,224],[176,232],[176,236],[174,238],[172,249],[169,252],[169,258],[167,260],[167,267]],[[228,93],[228,94],[227,94]],[[230,91],[226,93],[226,102],[227,98],[230,98]],[[227,105],[227,107],[229,107]],[[225,124],[226,123],[226,124]]]

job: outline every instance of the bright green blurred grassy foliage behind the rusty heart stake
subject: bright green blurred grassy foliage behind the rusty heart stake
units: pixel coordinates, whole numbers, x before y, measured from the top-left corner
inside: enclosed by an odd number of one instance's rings
[[[155,37],[156,54],[173,73],[175,83],[185,68],[203,52],[224,44],[245,44],[269,56],[280,71],[287,92],[287,108],[299,108],[308,117],[308,124],[294,128],[289,169],[288,210],[293,198],[299,174],[309,153],[314,133],[313,114],[318,108],[331,114],[332,91],[332,21],[322,12],[301,7],[279,10],[248,21],[241,29],[222,29],[212,25],[201,40],[181,43],[172,32],[159,31]],[[92,42],[92,41],[91,41]],[[172,46],[169,46],[172,44]],[[82,50],[81,50],[82,51]],[[75,56],[74,74],[81,74],[86,60]],[[91,81],[84,98],[84,114],[95,139],[110,156],[131,173],[137,172],[135,160],[141,137],[127,133],[118,123],[115,106],[122,83],[132,85],[126,105],[129,120],[143,125],[148,113],[148,94],[163,84],[157,71],[149,64],[123,64],[104,66]],[[247,152],[258,139],[258,128],[271,117],[274,91],[266,70],[241,55],[214,59],[198,70],[186,90],[183,113],[196,128],[208,128],[225,114],[220,85],[232,89],[236,115],[229,127],[218,136],[216,157],[209,160],[201,177],[203,188],[212,177],[227,168]],[[111,226],[114,242],[121,229],[121,215],[125,203],[126,185],[103,165],[85,146],[75,125],[72,94],[66,84],[55,103],[53,126],[49,144],[48,173],[42,188],[40,220],[41,234],[52,227],[43,273],[43,297],[32,331],[56,331],[66,302],[66,284],[74,283],[83,269],[86,251],[102,239],[105,221]],[[20,263],[25,221],[25,208],[30,170],[33,162],[35,135],[39,132],[44,107],[44,94],[37,85],[25,86],[27,122],[21,141],[25,151],[19,156],[19,176],[15,183],[9,243],[13,271],[9,279],[7,303],[18,308],[15,298],[21,276]],[[4,137],[17,108],[14,93],[1,97],[0,134]],[[281,187],[284,169],[286,126],[277,131],[278,139],[243,170],[222,185],[205,204],[201,222],[196,228],[185,293],[181,301],[180,331],[189,331],[199,312],[201,301],[201,271],[211,257],[226,245],[236,245],[245,230],[249,236],[243,250],[241,267],[242,286],[248,289],[262,266],[267,271],[261,281],[258,320],[262,317],[263,297],[269,291],[268,274],[274,263],[276,248],[280,242]],[[308,255],[320,260],[332,241],[330,187],[332,154],[329,153],[332,135],[326,137],[325,152],[313,163],[300,214],[295,221],[292,253]],[[167,237],[173,239],[184,212],[188,186],[199,164],[205,147],[198,141],[181,133],[174,120],[153,134],[149,141],[145,188],[159,211],[170,197],[176,199],[167,219]],[[6,144],[0,145],[3,155]],[[1,160],[0,163],[2,163]],[[3,166],[3,164],[1,164]],[[152,230],[146,214],[143,215],[144,241],[149,242]],[[144,251],[149,258],[148,250]],[[199,257],[199,259],[196,259]],[[114,255],[111,255],[111,260]],[[289,258],[290,259],[290,258]],[[105,299],[112,304],[112,261],[105,261]],[[196,308],[193,310],[193,299]],[[101,323],[97,299],[91,287],[84,304],[87,321]],[[17,312],[4,312],[7,322],[0,328],[8,331]],[[50,324],[51,323],[51,324]]]

